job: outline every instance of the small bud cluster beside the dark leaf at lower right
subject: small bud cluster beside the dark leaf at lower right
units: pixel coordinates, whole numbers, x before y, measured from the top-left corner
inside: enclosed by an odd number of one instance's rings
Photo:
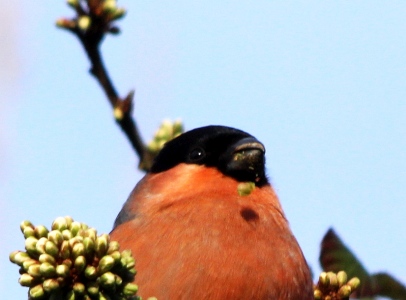
[[[347,273],[339,271],[322,272],[319,282],[314,288],[315,300],[338,300],[349,299],[350,295],[359,287],[360,280],[357,277],[347,281]]]

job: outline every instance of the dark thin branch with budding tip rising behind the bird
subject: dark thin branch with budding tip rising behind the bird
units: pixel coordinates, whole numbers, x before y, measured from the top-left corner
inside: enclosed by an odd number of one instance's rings
[[[113,26],[112,22],[123,17],[125,11],[117,8],[112,1],[88,0],[85,6],[81,1],[69,0],[68,4],[75,10],[77,17],[71,20],[60,19],[57,25],[72,32],[81,42],[91,63],[90,73],[102,87],[113,108],[117,124],[137,153],[140,159],[139,168],[146,171],[153,157],[148,155],[137,124],[131,115],[134,92],[131,91],[124,99],[118,96],[100,53],[100,44],[106,33],[119,33],[119,29]]]

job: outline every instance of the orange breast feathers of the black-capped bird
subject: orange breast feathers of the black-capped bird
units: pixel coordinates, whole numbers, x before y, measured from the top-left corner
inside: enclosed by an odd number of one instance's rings
[[[302,252],[270,186],[248,196],[216,169],[149,174],[111,238],[136,259],[139,294],[163,299],[313,299]]]

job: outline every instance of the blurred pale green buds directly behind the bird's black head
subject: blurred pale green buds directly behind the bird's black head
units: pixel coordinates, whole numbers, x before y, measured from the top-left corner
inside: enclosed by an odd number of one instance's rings
[[[183,133],[183,124],[180,120],[171,122],[164,120],[154,134],[154,138],[147,145],[149,152],[158,154],[164,144]]]

